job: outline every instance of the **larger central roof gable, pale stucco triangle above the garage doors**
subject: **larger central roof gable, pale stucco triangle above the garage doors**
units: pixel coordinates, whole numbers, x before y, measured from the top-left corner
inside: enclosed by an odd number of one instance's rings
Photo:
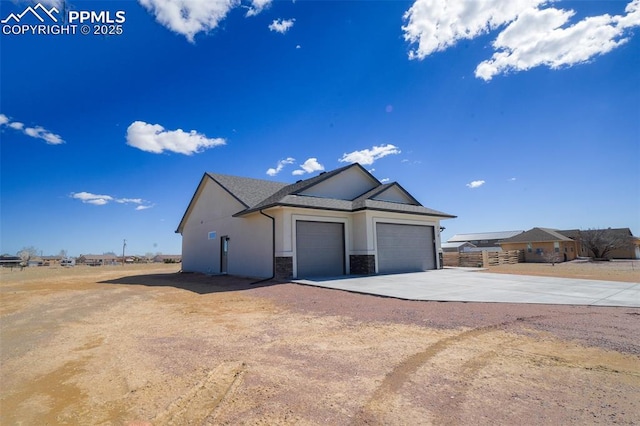
[[[322,177],[323,174],[320,176]],[[332,173],[324,179],[312,182],[304,189],[296,191],[295,194],[336,200],[353,200],[379,185],[378,179],[374,178],[361,165],[354,163],[338,169],[337,173]]]

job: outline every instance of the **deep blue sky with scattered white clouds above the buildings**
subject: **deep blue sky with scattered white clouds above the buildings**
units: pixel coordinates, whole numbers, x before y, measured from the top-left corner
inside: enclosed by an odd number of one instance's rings
[[[1,253],[179,253],[205,171],[352,161],[443,240],[640,235],[640,1],[177,3],[0,1]]]

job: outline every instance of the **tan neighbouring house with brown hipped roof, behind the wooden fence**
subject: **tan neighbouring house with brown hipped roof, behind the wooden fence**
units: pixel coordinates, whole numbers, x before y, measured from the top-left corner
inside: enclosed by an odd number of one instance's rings
[[[550,228],[533,228],[507,238],[502,250],[522,250],[527,263],[566,262],[578,257],[578,243]]]

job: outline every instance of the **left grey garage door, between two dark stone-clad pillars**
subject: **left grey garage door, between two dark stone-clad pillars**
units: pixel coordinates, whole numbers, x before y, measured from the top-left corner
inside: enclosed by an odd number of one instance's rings
[[[344,275],[344,225],[296,222],[298,278]]]

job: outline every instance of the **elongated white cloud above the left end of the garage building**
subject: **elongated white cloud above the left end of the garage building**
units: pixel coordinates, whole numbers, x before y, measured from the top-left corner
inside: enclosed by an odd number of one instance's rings
[[[127,129],[127,145],[155,154],[171,151],[191,155],[225,143],[222,138],[207,138],[195,130],[165,130],[159,124],[143,121],[134,121]]]

